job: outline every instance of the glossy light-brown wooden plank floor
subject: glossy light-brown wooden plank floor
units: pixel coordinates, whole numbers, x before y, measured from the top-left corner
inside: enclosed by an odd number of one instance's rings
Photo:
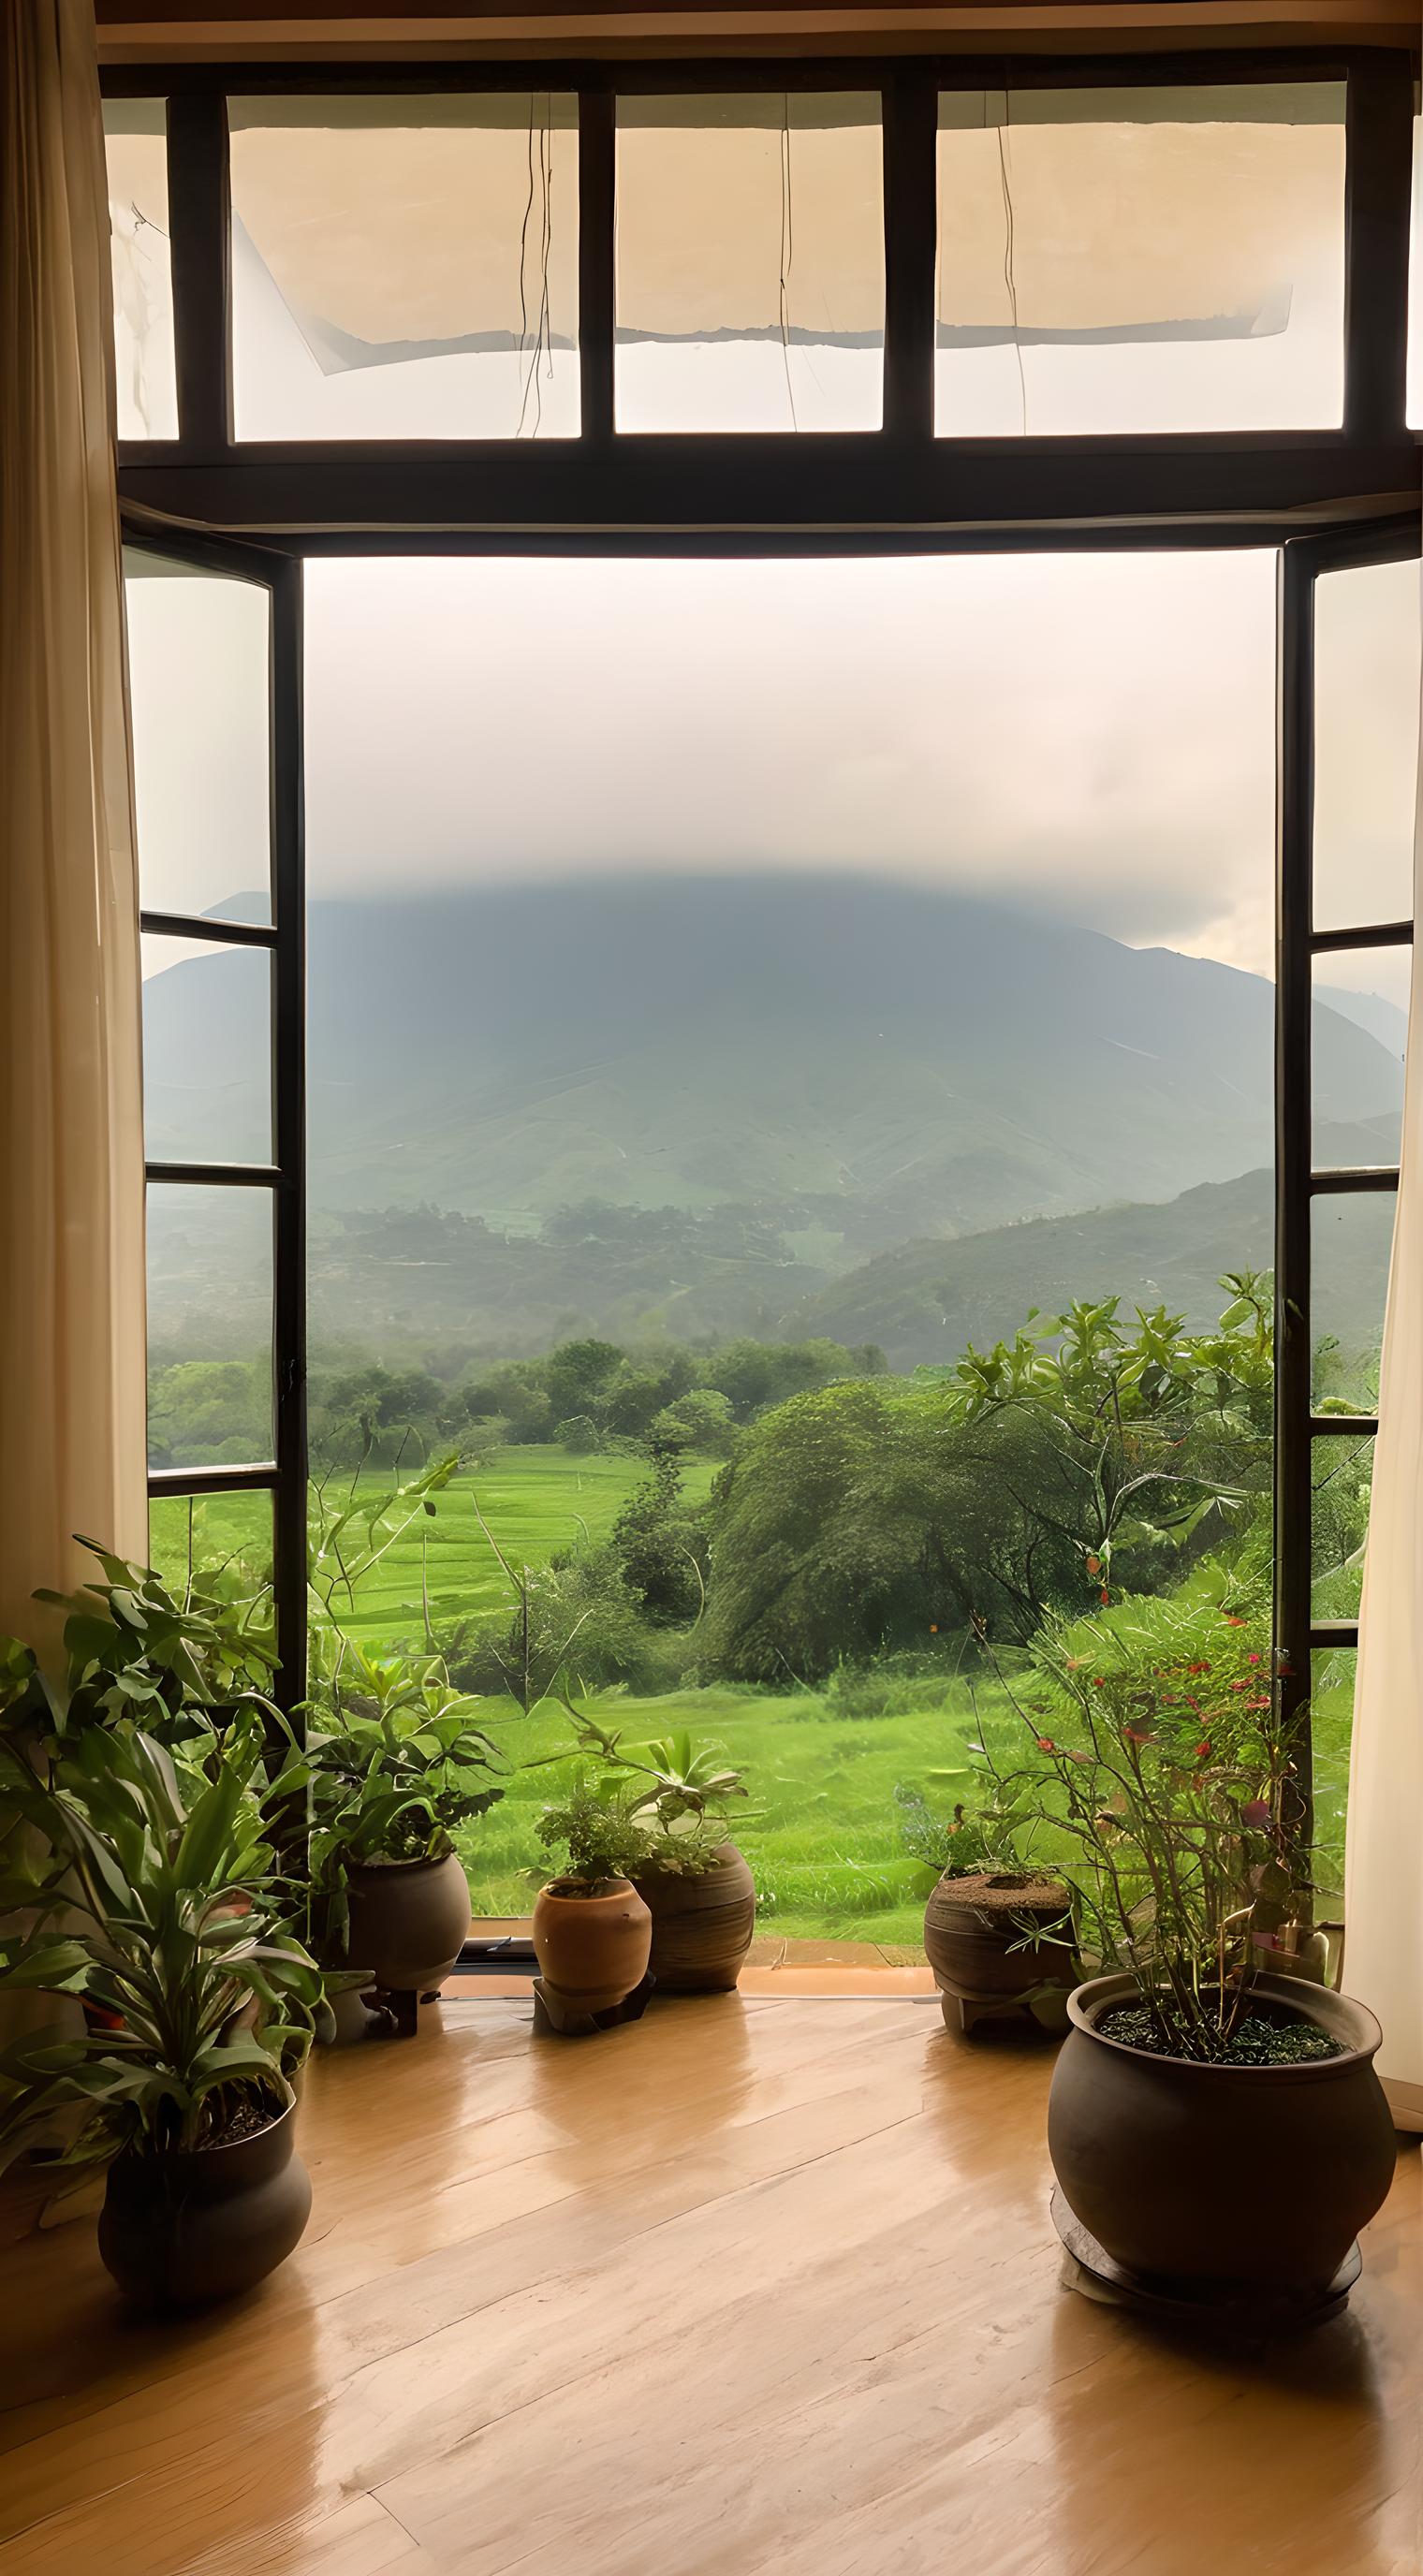
[[[299,2254],[116,2316],[3,2254],[0,2576],[1418,2576],[1418,2154],[1351,2311],[1201,2360],[1060,2287],[1052,2053],[933,2004],[528,2002],[325,2056]]]

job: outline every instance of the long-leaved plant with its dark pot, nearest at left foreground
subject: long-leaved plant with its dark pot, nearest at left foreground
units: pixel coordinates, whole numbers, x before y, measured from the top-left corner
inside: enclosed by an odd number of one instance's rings
[[[258,1721],[186,1765],[139,1728],[90,1726],[46,1775],[0,1747],[0,1793],[46,1850],[0,1886],[28,1917],[0,1978],[82,2007],[0,2058],[0,2161],[77,2115],[57,2161],[108,2159],[98,2249],[144,2308],[253,2287],[312,2205],[294,2076],[322,1976],[278,1911],[263,1790]]]

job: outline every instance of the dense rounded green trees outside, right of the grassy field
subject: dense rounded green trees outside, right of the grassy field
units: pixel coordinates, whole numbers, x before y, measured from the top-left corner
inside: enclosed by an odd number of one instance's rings
[[[1225,1285],[1212,1334],[1127,1329],[1108,1298],[776,1406],[714,1492],[706,1659],[817,1680],[980,1625],[1029,1643],[1088,1592],[1176,1582],[1268,1489],[1268,1298]]]

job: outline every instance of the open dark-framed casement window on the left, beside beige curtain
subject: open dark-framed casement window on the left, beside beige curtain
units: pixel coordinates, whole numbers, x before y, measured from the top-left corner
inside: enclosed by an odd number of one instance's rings
[[[150,1556],[307,1687],[302,567],[124,546],[144,951]],[[204,974],[193,976],[193,961]],[[214,1355],[198,1280],[229,1283]],[[180,1399],[180,1401],[178,1401]]]

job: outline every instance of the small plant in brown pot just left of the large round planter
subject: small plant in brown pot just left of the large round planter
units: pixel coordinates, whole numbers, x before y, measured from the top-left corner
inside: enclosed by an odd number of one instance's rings
[[[1003,1806],[985,1767],[985,1795],[954,1806],[938,1824],[923,1795],[897,1790],[902,1842],[938,1870],[923,1909],[923,1947],[944,1996],[949,2030],[1031,2012],[1047,2030],[1065,2027],[1065,1999],[1078,1984],[1072,1909],[1062,1880],[1031,1860],[1031,1821]]]

